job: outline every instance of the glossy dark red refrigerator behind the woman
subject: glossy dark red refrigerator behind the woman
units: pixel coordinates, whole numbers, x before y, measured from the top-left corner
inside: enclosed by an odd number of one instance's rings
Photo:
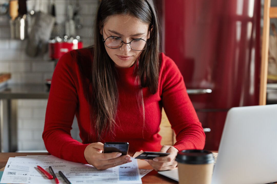
[[[227,111],[258,105],[260,0],[157,0],[161,50],[183,74],[206,132],[218,150]],[[238,127],[239,128],[239,127]]]

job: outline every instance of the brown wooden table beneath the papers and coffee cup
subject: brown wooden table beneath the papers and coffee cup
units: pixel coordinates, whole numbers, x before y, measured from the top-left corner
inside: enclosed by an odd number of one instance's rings
[[[133,154],[130,154],[130,155],[132,156]],[[49,153],[0,153],[0,168],[3,168],[6,166],[9,157],[27,156],[27,155],[50,155],[50,154]],[[153,184],[156,184],[156,183],[177,184],[178,183],[175,180],[171,180],[168,177],[158,174],[158,172],[155,170],[152,170],[150,173],[143,176],[141,180],[142,180],[142,183],[153,183]]]

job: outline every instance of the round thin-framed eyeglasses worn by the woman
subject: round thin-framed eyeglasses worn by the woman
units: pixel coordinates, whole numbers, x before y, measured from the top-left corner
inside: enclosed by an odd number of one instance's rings
[[[102,27],[102,38],[105,45],[110,49],[118,49],[123,45],[123,43],[125,43],[121,38],[117,36],[109,36],[108,38],[104,39],[103,27]],[[125,43],[125,44],[130,44],[131,49],[137,50],[137,51],[144,50],[147,48],[147,46],[150,45],[147,43],[147,41],[141,38],[133,39],[129,43]]]

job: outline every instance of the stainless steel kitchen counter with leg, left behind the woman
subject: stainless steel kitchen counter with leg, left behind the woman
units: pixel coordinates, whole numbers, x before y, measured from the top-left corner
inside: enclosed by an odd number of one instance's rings
[[[0,88],[0,151],[17,150],[17,99],[47,99],[45,84],[14,84]],[[8,131],[7,131],[8,130]]]

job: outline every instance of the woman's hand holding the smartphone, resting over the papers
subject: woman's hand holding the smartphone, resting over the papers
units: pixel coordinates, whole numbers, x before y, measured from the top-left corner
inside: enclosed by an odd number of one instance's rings
[[[104,144],[101,142],[91,143],[84,150],[86,161],[96,169],[104,170],[111,167],[132,162],[129,155],[122,155],[119,152],[102,153]]]

